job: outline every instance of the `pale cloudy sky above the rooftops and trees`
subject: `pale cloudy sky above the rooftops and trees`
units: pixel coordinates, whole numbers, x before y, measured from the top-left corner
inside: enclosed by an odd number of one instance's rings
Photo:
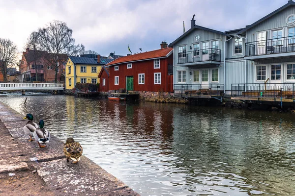
[[[159,49],[196,24],[226,31],[250,25],[288,0],[0,0],[0,37],[20,51],[30,32],[65,22],[76,43],[107,56]]]

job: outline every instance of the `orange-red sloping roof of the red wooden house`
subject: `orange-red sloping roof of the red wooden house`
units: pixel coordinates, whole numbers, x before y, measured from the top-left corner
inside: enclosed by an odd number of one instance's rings
[[[117,65],[120,63],[127,63],[133,61],[140,61],[145,59],[161,58],[166,57],[173,48],[156,49],[148,52],[142,52],[138,54],[132,54],[130,56],[123,56],[115,59],[114,61],[106,64],[106,66]]]

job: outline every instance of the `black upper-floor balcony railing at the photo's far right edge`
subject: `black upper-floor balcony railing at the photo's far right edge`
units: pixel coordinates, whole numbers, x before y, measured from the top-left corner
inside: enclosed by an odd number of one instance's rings
[[[295,52],[295,36],[247,42],[245,56]]]

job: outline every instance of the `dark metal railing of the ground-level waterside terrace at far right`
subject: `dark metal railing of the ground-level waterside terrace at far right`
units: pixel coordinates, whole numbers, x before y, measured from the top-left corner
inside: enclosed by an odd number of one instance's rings
[[[232,84],[232,97],[294,98],[295,83]]]

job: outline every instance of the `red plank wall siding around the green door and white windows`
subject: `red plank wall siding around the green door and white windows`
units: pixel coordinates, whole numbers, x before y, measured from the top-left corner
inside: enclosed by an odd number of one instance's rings
[[[173,54],[169,57],[173,58]],[[170,59],[170,58],[169,58]],[[110,90],[126,89],[126,76],[133,76],[134,91],[169,92],[168,88],[168,58],[160,59],[160,69],[154,69],[154,60],[133,62],[127,69],[127,63],[119,64],[119,70],[110,66]],[[145,84],[138,84],[138,74],[145,73]],[[154,73],[161,73],[161,84],[154,84]],[[119,76],[119,85],[115,85],[115,76]]]

